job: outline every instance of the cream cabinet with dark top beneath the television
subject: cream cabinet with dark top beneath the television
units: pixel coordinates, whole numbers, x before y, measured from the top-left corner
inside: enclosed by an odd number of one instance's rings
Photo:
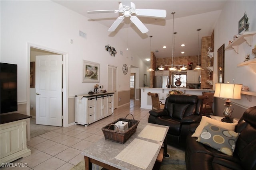
[[[10,119],[18,117],[17,121],[7,121],[2,123],[2,119],[6,120],[8,115],[1,115],[1,155],[2,163],[9,163],[18,158],[26,157],[31,154],[31,150],[27,148],[27,121],[31,116],[22,115],[20,113],[12,113],[9,115]],[[27,117],[27,118],[24,118]]]

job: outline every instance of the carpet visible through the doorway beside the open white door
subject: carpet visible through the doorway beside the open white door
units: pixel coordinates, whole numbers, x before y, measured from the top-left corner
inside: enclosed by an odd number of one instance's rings
[[[36,125],[36,119],[35,118],[30,119],[30,137],[31,138],[42,135],[50,131],[54,131],[59,128],[60,127],[58,126]]]

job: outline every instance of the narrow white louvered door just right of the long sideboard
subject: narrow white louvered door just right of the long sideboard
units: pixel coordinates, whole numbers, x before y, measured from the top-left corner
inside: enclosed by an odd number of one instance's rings
[[[117,108],[117,91],[116,91],[116,85],[117,85],[117,67],[114,66],[108,66],[108,91],[109,92],[115,92],[113,102],[114,102],[114,109]]]

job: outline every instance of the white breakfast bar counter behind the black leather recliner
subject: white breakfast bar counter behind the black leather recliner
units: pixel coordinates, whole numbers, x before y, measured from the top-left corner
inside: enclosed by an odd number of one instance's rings
[[[172,91],[172,90],[179,90],[179,91],[182,91],[183,94],[191,94],[191,95],[197,95],[197,96],[201,96],[202,92],[214,93],[214,90],[212,89],[147,88],[147,87],[142,87],[140,89],[141,89],[140,90],[141,92],[140,108],[142,109],[152,109],[152,101],[151,101],[151,97],[148,96],[148,92],[157,93],[162,103],[165,102],[165,99],[168,97],[169,91]]]

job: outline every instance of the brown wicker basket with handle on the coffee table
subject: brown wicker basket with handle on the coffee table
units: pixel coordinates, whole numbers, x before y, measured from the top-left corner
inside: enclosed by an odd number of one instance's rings
[[[128,115],[132,115],[132,114],[128,114]],[[126,115],[126,117],[128,115]],[[134,120],[133,115],[132,115],[133,119],[126,119],[126,117],[119,118],[116,121],[102,127],[102,132],[106,140],[124,144],[136,132],[137,126],[140,121]],[[115,126],[115,123],[117,123],[118,121],[128,122],[128,129],[126,131],[119,131],[119,130],[115,131],[114,126]]]

